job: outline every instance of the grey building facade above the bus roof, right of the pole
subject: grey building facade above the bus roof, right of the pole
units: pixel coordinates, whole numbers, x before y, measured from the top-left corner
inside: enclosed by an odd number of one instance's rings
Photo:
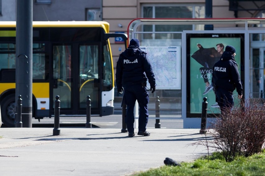
[[[33,21],[100,21],[98,0],[33,0]]]

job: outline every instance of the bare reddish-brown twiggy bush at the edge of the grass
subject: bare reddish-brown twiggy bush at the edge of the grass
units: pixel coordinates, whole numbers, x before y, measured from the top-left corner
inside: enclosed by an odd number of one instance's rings
[[[225,108],[208,130],[214,139],[204,143],[221,151],[225,160],[230,162],[236,156],[250,156],[261,152],[265,142],[265,105],[260,101],[250,101],[244,108]]]

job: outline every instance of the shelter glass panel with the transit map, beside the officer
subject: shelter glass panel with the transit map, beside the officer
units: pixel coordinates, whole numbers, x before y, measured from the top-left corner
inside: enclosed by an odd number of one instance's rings
[[[180,117],[181,114],[181,33],[148,33],[155,39],[146,39],[143,33],[135,33],[133,38],[140,41],[140,49],[147,52],[156,78],[156,91],[150,102],[160,100],[160,117]],[[157,39],[158,38],[158,39]],[[150,85],[147,83],[147,87]],[[152,103],[150,103],[152,106]],[[163,109],[163,110],[162,110]],[[150,117],[155,113],[149,112]]]

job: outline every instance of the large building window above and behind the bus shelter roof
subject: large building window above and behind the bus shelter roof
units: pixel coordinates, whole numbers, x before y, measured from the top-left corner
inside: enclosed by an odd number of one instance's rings
[[[143,4],[143,18],[204,18],[204,4]],[[182,32],[184,30],[204,30],[203,25],[144,25],[145,32]],[[160,39],[162,35],[145,34],[145,39]],[[179,34],[173,34],[172,39],[178,39]]]

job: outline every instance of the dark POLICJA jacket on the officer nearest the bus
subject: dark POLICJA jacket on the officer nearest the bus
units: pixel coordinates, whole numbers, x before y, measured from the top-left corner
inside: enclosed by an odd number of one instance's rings
[[[137,46],[129,46],[119,55],[116,67],[116,85],[122,86],[149,81],[151,87],[155,87],[156,80],[152,66],[146,52]]]

